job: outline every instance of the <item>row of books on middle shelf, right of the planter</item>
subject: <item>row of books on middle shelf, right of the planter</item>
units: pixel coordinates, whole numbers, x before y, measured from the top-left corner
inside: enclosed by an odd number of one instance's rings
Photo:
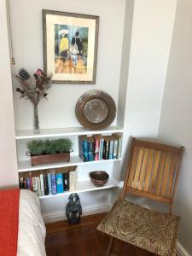
[[[79,136],[79,156],[84,162],[119,159],[121,148],[122,135],[119,133],[113,133],[111,136]]]

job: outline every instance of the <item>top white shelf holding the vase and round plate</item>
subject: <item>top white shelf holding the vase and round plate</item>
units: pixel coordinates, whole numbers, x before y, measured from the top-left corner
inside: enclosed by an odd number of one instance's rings
[[[27,130],[27,131],[16,131],[16,140],[43,138],[43,137],[105,134],[105,133],[123,132],[123,131],[124,130],[122,127],[119,127],[116,125],[111,125],[107,129],[103,129],[99,131],[85,130],[83,127],[67,127],[67,128],[55,128],[55,129],[42,129],[40,131],[40,134],[34,134],[32,130]]]

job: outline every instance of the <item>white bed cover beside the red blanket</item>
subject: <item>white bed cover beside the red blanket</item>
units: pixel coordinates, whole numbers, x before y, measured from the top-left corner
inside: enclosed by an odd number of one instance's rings
[[[19,211],[17,256],[46,256],[46,229],[37,195],[30,190],[20,189]]]

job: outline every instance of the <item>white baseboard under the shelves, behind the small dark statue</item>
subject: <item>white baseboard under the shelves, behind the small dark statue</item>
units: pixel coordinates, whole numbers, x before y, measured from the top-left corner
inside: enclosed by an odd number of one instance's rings
[[[87,215],[92,215],[92,214],[97,214],[97,213],[102,213],[102,212],[108,212],[111,209],[111,205],[107,206],[98,206],[98,207],[83,207],[83,215],[82,216],[87,216]],[[44,223],[50,223],[50,222],[56,222],[56,221],[61,221],[66,219],[66,212],[51,212],[48,214],[42,214],[44,218]]]

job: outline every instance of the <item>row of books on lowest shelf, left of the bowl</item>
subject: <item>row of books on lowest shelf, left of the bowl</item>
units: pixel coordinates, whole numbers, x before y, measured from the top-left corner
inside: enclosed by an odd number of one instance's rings
[[[38,196],[74,191],[77,182],[75,168],[70,167],[51,171],[25,172],[20,176],[22,176],[20,189],[30,189]]]

